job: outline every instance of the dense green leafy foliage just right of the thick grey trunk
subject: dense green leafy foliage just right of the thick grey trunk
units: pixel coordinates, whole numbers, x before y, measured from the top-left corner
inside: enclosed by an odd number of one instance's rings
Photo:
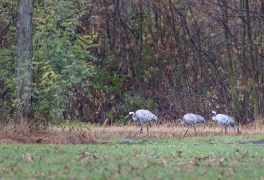
[[[91,37],[76,34],[81,14],[67,19],[77,10],[72,1],[45,1],[34,11],[35,111],[48,119],[62,118],[71,89],[85,88],[94,74],[85,61],[93,58]]]

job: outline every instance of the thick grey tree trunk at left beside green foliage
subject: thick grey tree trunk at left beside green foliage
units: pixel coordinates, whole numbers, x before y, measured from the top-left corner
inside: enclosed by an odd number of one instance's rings
[[[17,21],[17,122],[33,117],[33,0],[20,0]]]

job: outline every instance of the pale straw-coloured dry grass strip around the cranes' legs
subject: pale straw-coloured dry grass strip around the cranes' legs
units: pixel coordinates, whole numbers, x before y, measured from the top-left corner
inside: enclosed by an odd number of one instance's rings
[[[184,138],[190,136],[215,136],[220,132],[220,127],[213,123],[208,122],[206,124],[197,124],[195,130],[190,127],[188,133],[185,134],[188,126],[181,126],[176,124],[153,124],[150,128],[150,138]],[[133,138],[134,134],[140,130],[140,126],[94,126],[91,129],[91,133],[95,138]],[[238,133],[237,127],[234,130],[232,127],[227,129],[227,133],[221,133],[221,136],[253,136],[264,135],[264,124],[252,123],[247,126],[239,127],[240,133]],[[143,125],[143,133],[135,138],[147,137],[147,125]]]

